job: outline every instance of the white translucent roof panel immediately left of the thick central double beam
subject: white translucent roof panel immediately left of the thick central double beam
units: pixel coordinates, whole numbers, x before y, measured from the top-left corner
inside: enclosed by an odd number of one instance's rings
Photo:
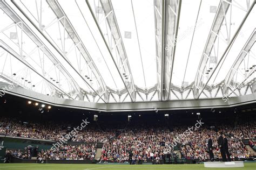
[[[130,0],[114,0],[112,4],[130,62],[134,83],[139,87],[154,86],[157,83],[157,72],[153,1],[132,1],[131,4]],[[136,21],[134,21],[133,11]],[[143,67],[146,84],[144,83]]]

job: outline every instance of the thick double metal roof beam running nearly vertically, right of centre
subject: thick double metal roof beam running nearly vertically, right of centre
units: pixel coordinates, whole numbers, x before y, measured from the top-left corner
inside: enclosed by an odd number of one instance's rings
[[[181,0],[154,0],[159,100],[169,100]],[[159,12],[161,15],[159,15]]]

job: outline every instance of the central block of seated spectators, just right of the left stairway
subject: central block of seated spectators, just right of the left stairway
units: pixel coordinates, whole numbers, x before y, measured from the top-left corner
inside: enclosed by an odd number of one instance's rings
[[[163,159],[170,148],[165,145],[171,141],[171,133],[167,129],[133,129],[119,134],[117,138],[104,143],[102,160],[128,161],[131,159],[145,161],[147,159]]]

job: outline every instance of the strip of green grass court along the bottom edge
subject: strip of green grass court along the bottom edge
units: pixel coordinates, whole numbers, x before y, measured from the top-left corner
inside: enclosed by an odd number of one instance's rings
[[[103,165],[103,164],[0,164],[1,170],[17,170],[17,169],[40,169],[40,170],[90,170],[90,169],[103,169],[103,170],[126,170],[126,169],[138,169],[138,170],[156,170],[156,169],[179,169],[179,170],[189,170],[189,169],[256,169],[256,162],[245,163],[243,168],[205,168],[204,164],[183,164],[183,165]]]

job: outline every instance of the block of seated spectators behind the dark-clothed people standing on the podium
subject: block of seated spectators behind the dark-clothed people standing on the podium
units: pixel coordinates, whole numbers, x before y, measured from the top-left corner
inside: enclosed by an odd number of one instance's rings
[[[185,130],[186,129],[175,129],[173,133],[176,134],[177,137],[178,134]],[[227,134],[229,152],[232,159],[252,157],[252,153],[248,151],[244,143],[242,143],[242,138],[244,138],[243,131],[239,128],[234,129],[231,126],[220,126],[219,131]],[[215,148],[213,150],[214,158],[220,159],[221,155],[220,148],[217,144],[217,131],[206,128],[198,129],[197,131],[193,131],[193,133],[180,138],[182,157],[186,159],[209,159],[210,157],[207,152],[207,140],[209,134],[212,136],[213,148]]]

